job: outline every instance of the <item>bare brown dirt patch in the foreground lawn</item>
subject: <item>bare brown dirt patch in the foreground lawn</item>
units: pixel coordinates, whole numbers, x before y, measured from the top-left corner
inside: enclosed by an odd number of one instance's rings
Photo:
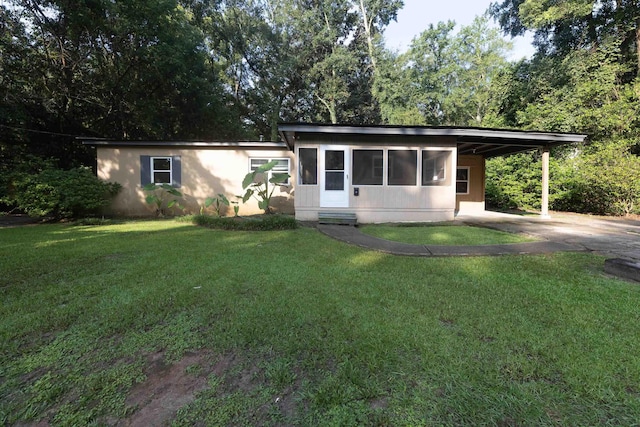
[[[208,353],[187,354],[179,362],[167,364],[164,353],[150,355],[147,379],[136,385],[127,397],[126,404],[138,409],[125,425],[164,425],[172,420],[178,409],[207,387],[210,357]]]

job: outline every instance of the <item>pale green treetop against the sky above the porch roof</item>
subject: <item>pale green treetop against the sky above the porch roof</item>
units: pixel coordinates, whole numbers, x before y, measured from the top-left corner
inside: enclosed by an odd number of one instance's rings
[[[487,17],[454,33],[455,23],[430,25],[409,50],[381,62],[376,97],[389,124],[495,125],[511,45]]]

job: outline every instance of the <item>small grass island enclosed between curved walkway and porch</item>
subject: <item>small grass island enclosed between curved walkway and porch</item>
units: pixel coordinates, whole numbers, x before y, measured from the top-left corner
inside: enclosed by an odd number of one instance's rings
[[[370,224],[361,231],[374,237],[414,245],[497,245],[535,239],[482,227],[441,224]]]

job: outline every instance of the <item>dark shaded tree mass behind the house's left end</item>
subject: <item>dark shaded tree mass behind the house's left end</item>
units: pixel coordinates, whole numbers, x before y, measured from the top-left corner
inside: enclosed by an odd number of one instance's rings
[[[0,57],[0,69],[13,70],[5,101],[20,119],[4,120],[29,130],[36,154],[90,164],[73,136],[195,138],[232,128],[202,34],[176,0],[8,4],[2,43],[14,54]]]

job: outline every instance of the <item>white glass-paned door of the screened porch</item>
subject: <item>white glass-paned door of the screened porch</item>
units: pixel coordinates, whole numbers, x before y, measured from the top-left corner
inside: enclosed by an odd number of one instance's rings
[[[349,207],[349,149],[320,146],[320,207]]]

